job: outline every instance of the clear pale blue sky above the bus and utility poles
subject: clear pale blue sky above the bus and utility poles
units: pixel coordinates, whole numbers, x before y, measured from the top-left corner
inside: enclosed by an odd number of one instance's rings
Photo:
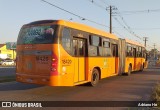
[[[147,49],[154,48],[155,44],[160,51],[160,0],[46,1],[86,20],[42,0],[0,0],[0,44],[16,42],[22,25],[46,19],[79,22],[109,32],[109,6],[113,6],[112,27],[115,35],[142,44],[143,37],[148,37]]]

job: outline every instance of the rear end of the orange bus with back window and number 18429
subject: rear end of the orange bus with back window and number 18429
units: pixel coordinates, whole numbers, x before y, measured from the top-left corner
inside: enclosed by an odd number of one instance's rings
[[[17,40],[18,82],[55,84],[51,76],[59,74],[57,30],[54,21],[33,22],[22,27]]]

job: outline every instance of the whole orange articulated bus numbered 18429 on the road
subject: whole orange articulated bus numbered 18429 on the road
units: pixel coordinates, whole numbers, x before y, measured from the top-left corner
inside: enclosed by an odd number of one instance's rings
[[[129,45],[132,58],[127,56]],[[96,86],[102,78],[143,70],[145,58],[137,56],[139,51],[145,54],[143,49],[140,44],[79,23],[31,22],[18,36],[16,80],[50,86],[89,82]]]

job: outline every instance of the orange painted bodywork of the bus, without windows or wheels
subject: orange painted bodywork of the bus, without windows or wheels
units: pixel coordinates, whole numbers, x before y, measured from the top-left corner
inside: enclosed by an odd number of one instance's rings
[[[64,20],[57,20],[52,23],[45,24],[31,24],[23,26],[23,28],[44,25],[58,25],[72,28],[86,33],[102,36],[103,38],[107,37],[111,40],[118,42],[118,37],[113,34],[109,34],[86,25],[68,22]],[[80,40],[84,39],[81,32],[76,36],[76,38],[77,37]],[[58,43],[55,44],[52,43],[17,45],[16,80],[18,82],[50,86],[75,86],[91,82],[92,72],[95,68],[99,71],[100,79],[120,74],[119,56],[74,57],[68,54],[64,47],[62,47],[60,43],[60,38],[58,38],[57,41]],[[86,43],[88,43],[88,41]],[[52,57],[51,53],[54,53],[54,56],[56,56],[58,59],[56,73],[51,72],[52,62],[56,60]],[[41,56],[47,58],[47,62],[39,61],[39,58],[41,59]],[[124,72],[128,72],[129,64],[136,65],[132,66],[132,71],[140,70],[140,66],[144,62],[144,58],[134,59],[127,57],[125,59]]]

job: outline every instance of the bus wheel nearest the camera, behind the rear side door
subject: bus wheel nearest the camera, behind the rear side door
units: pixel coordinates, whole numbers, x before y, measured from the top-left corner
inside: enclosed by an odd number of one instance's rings
[[[99,82],[99,71],[97,69],[93,69],[92,76],[91,76],[91,86],[96,86]]]

